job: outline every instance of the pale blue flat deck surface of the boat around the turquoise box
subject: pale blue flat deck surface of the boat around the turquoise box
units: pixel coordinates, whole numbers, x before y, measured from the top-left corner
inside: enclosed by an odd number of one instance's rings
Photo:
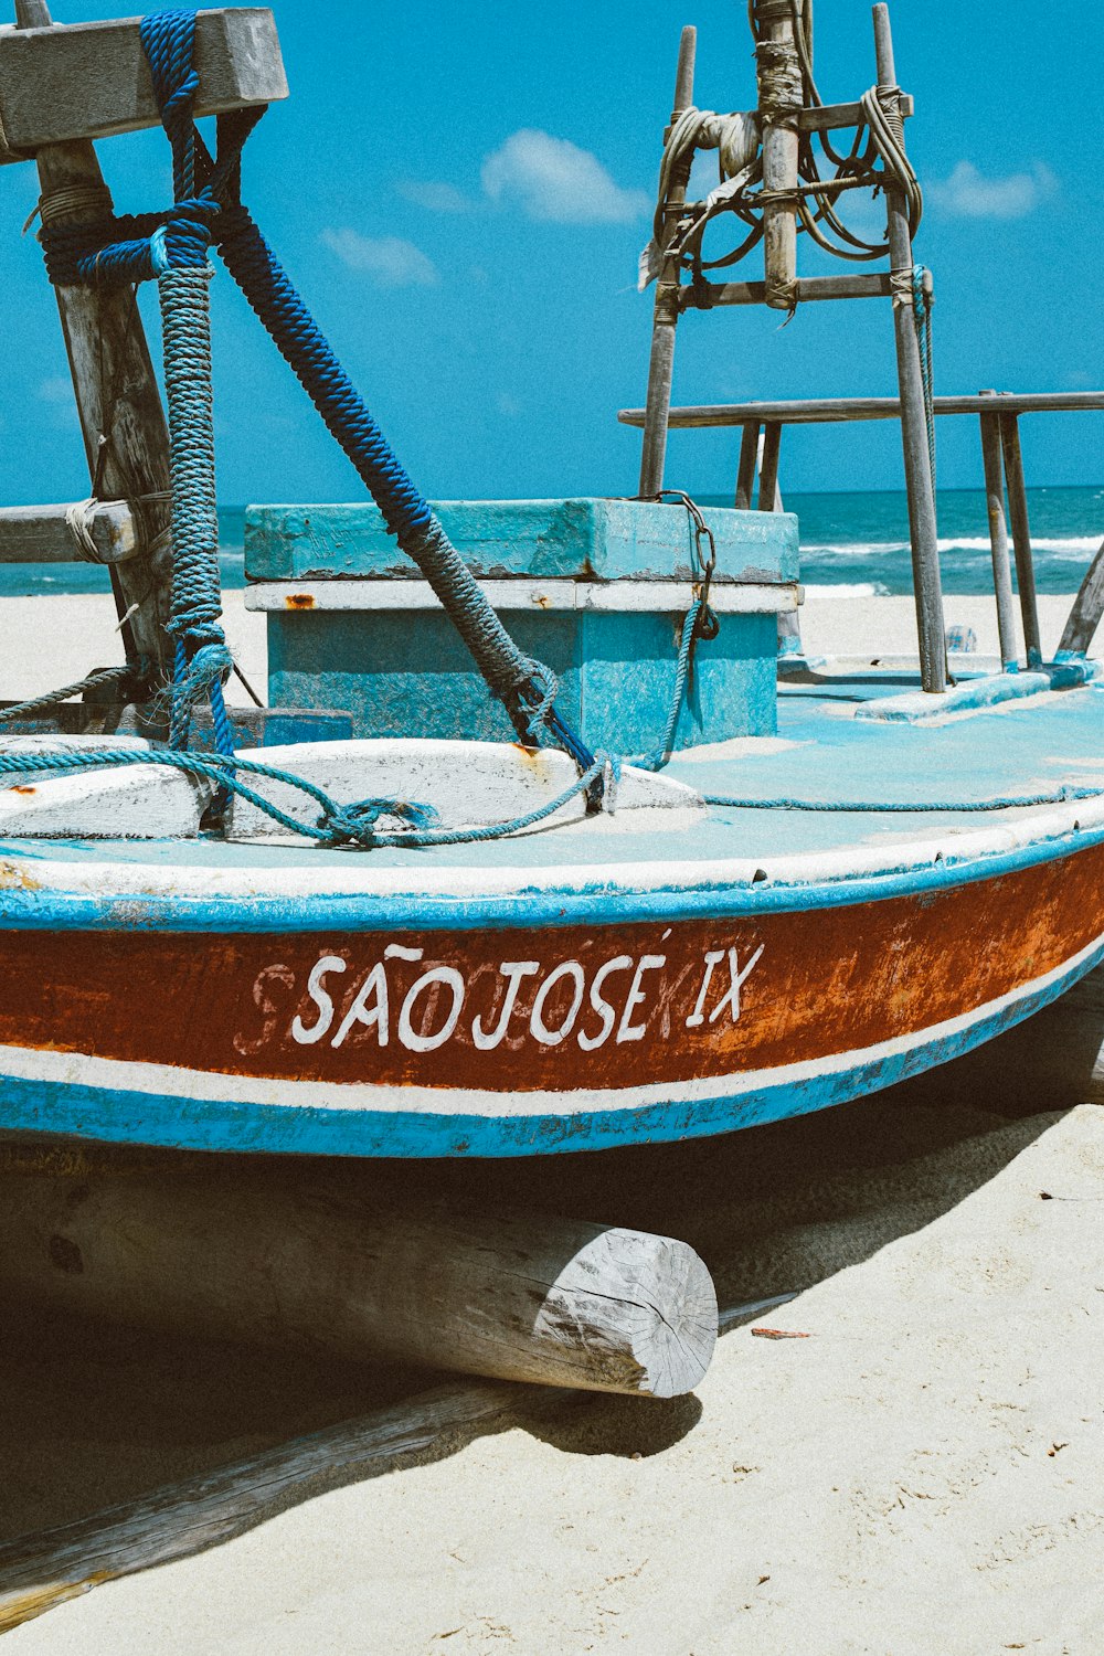
[[[996,707],[952,714],[919,724],[856,719],[856,709],[915,687],[899,672],[828,674],[818,682],[780,686],[778,735],[753,737],[677,753],[665,775],[703,795],[745,805],[712,805],[708,811],[626,811],[588,821],[538,828],[505,840],[434,846],[379,848],[371,853],[321,850],[306,843],[227,843],[217,838],[0,841],[8,854],[48,861],[111,863],[136,873],[185,869],[262,874],[298,868],[339,876],[338,884],[371,889],[384,871],[415,874],[422,889],[437,876],[465,869],[498,878],[513,873],[526,884],[550,874],[636,864],[712,864],[755,861],[771,878],[791,858],[882,851],[900,866],[900,850],[940,840],[991,836],[996,828],[1036,818],[1048,806],[965,810],[1000,798],[1054,800],[1059,790],[1104,790],[1104,692],[1096,686],[1054,691]],[[763,808],[758,802],[794,800],[816,808]],[[872,810],[851,811],[847,803]],[[887,805],[915,810],[886,815]],[[1049,810],[1054,805],[1051,803]],[[1092,815],[1092,802],[1081,811]],[[965,850],[965,846],[963,846]],[[833,858],[834,861],[834,858]],[[404,881],[399,881],[404,883]]]

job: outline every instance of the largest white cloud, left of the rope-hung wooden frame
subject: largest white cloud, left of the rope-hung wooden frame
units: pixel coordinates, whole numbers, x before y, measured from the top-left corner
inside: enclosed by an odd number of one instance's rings
[[[649,210],[644,190],[622,190],[589,149],[535,128],[487,156],[482,179],[493,202],[551,224],[632,224]]]

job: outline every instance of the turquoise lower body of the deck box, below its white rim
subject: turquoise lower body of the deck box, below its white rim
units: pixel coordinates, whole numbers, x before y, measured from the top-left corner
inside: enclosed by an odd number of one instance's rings
[[[591,749],[647,753],[662,740],[680,614],[503,611],[520,649],[559,679],[556,705]],[[723,616],[700,641],[675,745],[776,729],[775,616]],[[513,729],[449,618],[435,609],[268,616],[273,702],[348,709],[361,737],[475,737]]]

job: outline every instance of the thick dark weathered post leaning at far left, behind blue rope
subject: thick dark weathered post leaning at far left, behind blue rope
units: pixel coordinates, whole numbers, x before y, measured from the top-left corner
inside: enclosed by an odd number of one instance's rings
[[[17,0],[17,25],[50,25],[45,0]],[[111,207],[89,142],[45,144],[35,156],[41,214],[48,224],[101,217]],[[139,525],[139,546],[111,565],[111,586],[124,623],[127,654],[144,656],[167,676],[172,556],[169,545],[169,432],[129,286],[56,286],[76,409],[93,493],[126,500]]]

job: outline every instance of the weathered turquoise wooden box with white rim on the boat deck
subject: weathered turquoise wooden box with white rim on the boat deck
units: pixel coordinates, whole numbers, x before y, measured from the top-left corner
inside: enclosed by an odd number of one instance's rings
[[[518,646],[559,677],[558,707],[588,745],[654,750],[694,596],[685,508],[579,498],[435,512]],[[775,732],[778,614],[799,601],[791,513],[705,515],[720,633],[697,646],[679,747]],[[513,737],[376,507],[250,507],[245,573],[247,606],[268,614],[273,702],[344,709],[356,735]]]

